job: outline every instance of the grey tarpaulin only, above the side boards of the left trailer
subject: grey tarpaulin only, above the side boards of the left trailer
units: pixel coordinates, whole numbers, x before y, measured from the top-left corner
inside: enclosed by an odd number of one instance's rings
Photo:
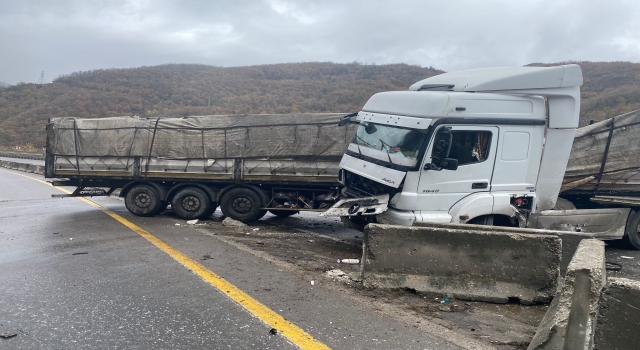
[[[56,155],[90,157],[342,156],[354,130],[353,126],[338,128],[342,116],[305,113],[160,119],[60,118],[51,120],[55,133],[53,151]]]

